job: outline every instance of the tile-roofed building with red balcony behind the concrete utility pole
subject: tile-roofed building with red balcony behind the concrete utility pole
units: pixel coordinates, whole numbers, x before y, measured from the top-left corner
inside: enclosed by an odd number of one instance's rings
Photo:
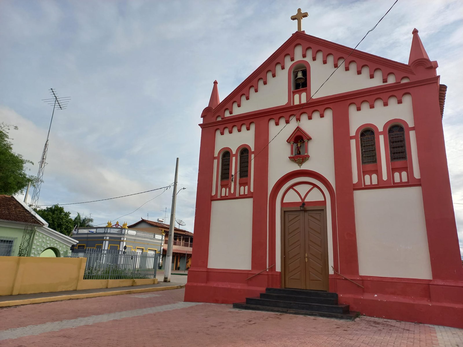
[[[164,261],[167,254],[167,244],[169,242],[169,224],[153,222],[141,219],[139,222],[131,224],[128,228],[150,232],[156,235],[164,235],[163,258],[161,269],[164,269]],[[172,249],[172,270],[188,270],[191,266],[191,254],[193,251],[193,233],[187,230],[174,229],[174,245]]]

